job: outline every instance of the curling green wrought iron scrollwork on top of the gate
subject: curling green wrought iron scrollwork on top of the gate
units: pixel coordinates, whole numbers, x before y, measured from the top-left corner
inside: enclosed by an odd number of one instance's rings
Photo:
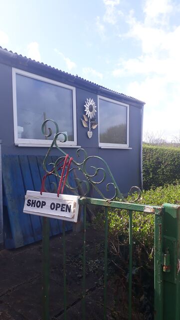
[[[42,133],[45,137],[50,137],[52,135],[52,129],[48,127],[48,134],[47,134],[47,123],[51,122],[53,125],[55,125],[55,135],[52,139],[51,146],[49,147],[47,154],[43,161],[43,168],[46,171],[47,174],[54,174],[56,177],[61,178],[61,172],[59,169],[59,163],[63,162],[63,160],[66,157],[66,153],[58,146],[58,141],[61,143],[67,141],[67,135],[64,132],[59,132],[59,128],[57,123],[54,120],[47,119],[42,124]],[[63,139],[60,139],[60,137],[63,137]],[[54,163],[48,163],[48,157],[52,151],[52,148],[55,147],[57,150],[60,151],[61,156],[54,162]],[[121,200],[123,202],[127,202],[127,200],[124,198],[123,194],[120,192],[119,187],[114,179],[114,176],[106,163],[106,161],[99,157],[99,156],[88,156],[86,150],[83,148],[79,148],[76,150],[76,157],[81,158],[81,161],[76,161],[75,159],[72,160],[73,167],[69,170],[69,174],[73,173],[75,186],[71,186],[69,183],[69,180],[66,181],[66,187],[74,192],[77,192],[79,188],[84,185],[85,186],[85,192],[83,196],[86,196],[90,190],[90,185],[96,190],[96,192],[105,200],[112,201],[116,198],[118,200]],[[96,167],[94,165],[91,165],[92,161],[101,161],[103,164],[103,167]],[[49,166],[51,169],[48,169]],[[90,172],[90,171],[91,172]],[[80,179],[77,176],[77,173],[81,173],[85,177],[85,179]],[[107,176],[110,178],[110,182],[106,183]],[[114,193],[113,196],[110,198],[105,197],[105,195],[102,193],[102,191],[99,188],[99,185],[105,183],[106,185],[106,191],[109,192],[109,189],[113,188]],[[135,198],[133,200],[130,200],[128,202],[136,202],[141,197],[141,190],[139,187],[133,186],[130,190],[130,194],[132,191],[135,192]]]

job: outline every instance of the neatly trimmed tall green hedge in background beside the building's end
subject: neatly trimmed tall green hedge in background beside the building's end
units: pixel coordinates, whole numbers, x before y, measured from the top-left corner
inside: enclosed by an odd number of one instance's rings
[[[180,180],[180,148],[143,146],[143,185],[145,190]]]

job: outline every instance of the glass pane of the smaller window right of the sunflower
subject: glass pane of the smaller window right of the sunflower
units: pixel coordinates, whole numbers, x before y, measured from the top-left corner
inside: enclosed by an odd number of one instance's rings
[[[101,143],[127,144],[127,107],[99,99]]]

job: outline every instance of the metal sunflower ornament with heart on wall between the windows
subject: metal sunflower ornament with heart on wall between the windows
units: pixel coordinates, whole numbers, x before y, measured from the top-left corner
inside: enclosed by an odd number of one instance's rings
[[[86,114],[83,114],[84,119],[81,119],[81,121],[85,128],[89,128],[87,135],[88,135],[88,138],[90,139],[93,134],[91,129],[95,129],[98,126],[98,124],[95,121],[96,103],[94,102],[93,99],[87,98],[87,101],[85,102],[84,106],[85,106]]]

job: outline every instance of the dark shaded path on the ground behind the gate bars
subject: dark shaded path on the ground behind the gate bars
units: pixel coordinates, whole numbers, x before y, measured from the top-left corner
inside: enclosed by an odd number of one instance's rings
[[[82,233],[66,235],[67,319],[82,319]],[[103,235],[87,231],[87,320],[103,319]],[[41,320],[41,242],[0,251],[0,320]],[[109,307],[113,288],[108,290]],[[50,319],[63,320],[62,239],[50,240]],[[108,319],[112,319],[110,314]]]

